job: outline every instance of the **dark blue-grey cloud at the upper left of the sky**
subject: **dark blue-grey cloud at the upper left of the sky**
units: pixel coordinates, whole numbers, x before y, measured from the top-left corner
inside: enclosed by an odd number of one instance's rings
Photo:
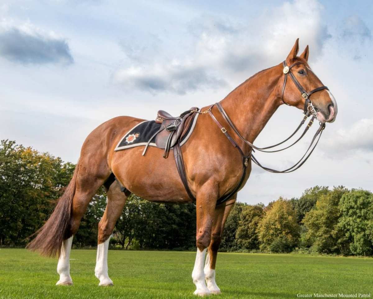
[[[0,56],[21,64],[72,64],[67,41],[32,24],[0,23]]]

